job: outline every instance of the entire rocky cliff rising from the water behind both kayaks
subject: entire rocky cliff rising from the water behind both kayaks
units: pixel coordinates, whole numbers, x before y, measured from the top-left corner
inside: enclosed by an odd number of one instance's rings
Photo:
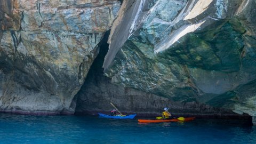
[[[141,115],[170,105],[174,114],[234,115],[225,108],[255,122],[255,7],[255,0],[0,1],[0,111],[93,113],[112,101]],[[118,85],[97,72],[102,61],[84,83],[110,27],[103,68]]]

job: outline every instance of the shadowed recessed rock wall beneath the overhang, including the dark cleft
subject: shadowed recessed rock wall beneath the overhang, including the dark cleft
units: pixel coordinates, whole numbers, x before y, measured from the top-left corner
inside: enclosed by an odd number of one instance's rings
[[[103,43],[100,52],[92,63],[84,85],[75,96],[76,114],[98,115],[99,112],[108,114],[113,109],[110,102],[113,102],[122,113],[136,113],[137,116],[158,116],[161,115],[164,107],[169,107],[172,115],[176,116],[248,118],[231,110],[213,108],[198,102],[173,102],[152,93],[111,84],[111,78],[103,76],[103,58],[108,51],[108,45],[104,43],[105,38],[101,41]]]

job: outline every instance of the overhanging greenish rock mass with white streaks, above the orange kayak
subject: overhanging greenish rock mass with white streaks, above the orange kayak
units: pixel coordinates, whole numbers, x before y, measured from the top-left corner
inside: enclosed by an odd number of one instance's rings
[[[255,7],[254,0],[124,1],[105,75],[174,101],[256,116]]]

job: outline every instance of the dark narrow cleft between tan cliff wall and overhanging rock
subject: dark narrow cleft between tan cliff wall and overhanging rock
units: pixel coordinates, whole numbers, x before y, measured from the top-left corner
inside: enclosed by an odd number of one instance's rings
[[[76,101],[75,115],[91,114],[91,110],[88,110],[93,108],[96,104],[95,102],[91,102],[91,99],[93,99],[92,101],[100,99],[99,95],[101,95],[100,90],[102,89],[102,83],[105,83],[103,84],[105,86],[109,84],[111,85],[111,79],[103,76],[104,73],[102,68],[105,55],[108,52],[109,44],[107,41],[109,34],[110,30],[106,31],[101,42],[98,44],[99,54],[94,59],[83,86],[74,97],[74,101]]]

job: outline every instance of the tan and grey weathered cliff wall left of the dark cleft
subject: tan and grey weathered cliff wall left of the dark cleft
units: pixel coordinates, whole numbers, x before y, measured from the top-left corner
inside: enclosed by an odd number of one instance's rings
[[[120,2],[1,1],[0,110],[72,114]]]

